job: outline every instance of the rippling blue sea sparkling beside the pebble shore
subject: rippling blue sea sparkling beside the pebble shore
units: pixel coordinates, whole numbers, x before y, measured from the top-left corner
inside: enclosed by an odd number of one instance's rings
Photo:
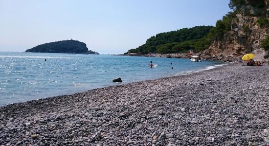
[[[150,61],[157,66],[150,68]],[[222,65],[164,57],[0,52],[0,106]],[[112,82],[118,77],[123,82]]]

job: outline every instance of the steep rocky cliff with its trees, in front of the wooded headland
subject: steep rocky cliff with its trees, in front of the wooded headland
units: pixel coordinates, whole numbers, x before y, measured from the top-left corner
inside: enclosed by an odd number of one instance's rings
[[[230,0],[229,7],[233,11],[216,24],[226,32],[215,37],[202,54],[214,58],[236,58],[252,52],[268,58],[269,0]]]

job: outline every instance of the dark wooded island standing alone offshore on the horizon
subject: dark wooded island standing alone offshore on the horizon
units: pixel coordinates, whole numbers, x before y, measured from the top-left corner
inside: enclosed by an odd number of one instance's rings
[[[88,50],[84,42],[78,40],[61,40],[38,45],[25,52],[35,53],[75,53],[75,54],[99,54]]]

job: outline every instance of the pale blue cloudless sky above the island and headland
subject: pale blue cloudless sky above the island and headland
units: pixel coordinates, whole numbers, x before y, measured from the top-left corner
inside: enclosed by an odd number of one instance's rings
[[[74,39],[123,54],[158,33],[212,25],[229,0],[0,0],[0,52]]]

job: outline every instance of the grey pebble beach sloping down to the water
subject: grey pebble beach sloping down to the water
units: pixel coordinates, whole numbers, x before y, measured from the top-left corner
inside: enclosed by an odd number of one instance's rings
[[[0,146],[269,146],[269,65],[242,65],[0,107]]]

